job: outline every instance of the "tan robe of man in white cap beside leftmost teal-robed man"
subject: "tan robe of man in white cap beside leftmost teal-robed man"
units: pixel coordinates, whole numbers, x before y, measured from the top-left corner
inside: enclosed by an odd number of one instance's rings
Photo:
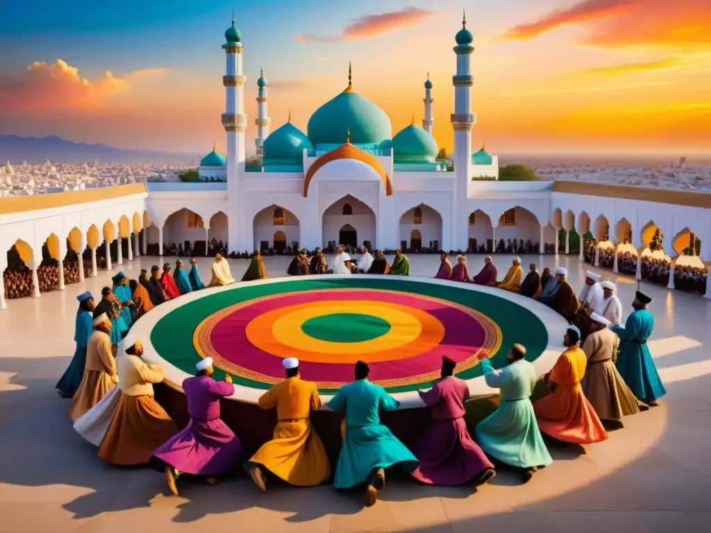
[[[77,421],[94,407],[118,380],[116,363],[111,352],[111,338],[107,333],[95,330],[87,343],[84,377],[69,408],[72,421]]]

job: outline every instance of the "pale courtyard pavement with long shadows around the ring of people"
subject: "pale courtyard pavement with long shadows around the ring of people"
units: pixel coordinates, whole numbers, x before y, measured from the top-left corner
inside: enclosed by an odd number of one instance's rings
[[[165,258],[174,263],[176,258]],[[269,274],[291,258],[265,259]],[[330,259],[330,258],[329,258]],[[497,255],[500,276],[510,256]],[[392,260],[392,257],[390,257]],[[129,277],[157,257],[114,266]],[[211,259],[201,259],[203,281]],[[410,257],[412,276],[434,276],[436,255]],[[577,256],[523,256],[566,266],[579,290]],[[230,261],[240,279],[247,261]],[[470,272],[483,264],[469,256]],[[524,268],[525,269],[525,268]],[[598,270],[601,271],[601,270]],[[631,311],[636,281],[601,271]],[[508,473],[474,490],[388,479],[370,508],[330,486],[262,493],[245,477],[214,487],[185,485],[166,496],[164,476],[115,468],[75,434],[69,400],[54,385],[74,352],[76,294],[110,283],[102,271],[83,286],[8,301],[0,311],[0,531],[16,532],[701,532],[711,530],[711,300],[642,284],[653,298],[649,348],[668,391],[659,407],[624,419],[602,443],[556,446],[555,461],[527,485]],[[207,279],[205,279],[207,278]]]

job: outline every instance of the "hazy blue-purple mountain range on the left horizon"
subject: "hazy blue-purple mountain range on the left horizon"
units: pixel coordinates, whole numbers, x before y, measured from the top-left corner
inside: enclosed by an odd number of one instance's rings
[[[198,154],[176,154],[156,150],[119,149],[105,144],[75,143],[56,135],[49,137],[20,137],[0,135],[0,161],[10,161],[19,165],[43,163],[47,159],[53,163],[159,163],[195,161]]]

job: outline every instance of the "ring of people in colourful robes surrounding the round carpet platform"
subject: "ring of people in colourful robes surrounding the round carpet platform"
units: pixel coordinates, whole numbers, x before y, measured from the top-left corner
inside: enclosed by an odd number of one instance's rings
[[[304,251],[294,258],[290,273],[372,273],[373,266],[384,262],[378,273],[409,275],[409,261],[400,250],[392,265],[382,254],[369,254],[367,249],[362,252],[354,260],[339,247],[329,265],[321,250],[311,259]],[[188,273],[178,259],[174,274],[171,264],[164,264],[162,273],[154,266],[150,274],[141,271],[138,281],[129,281],[119,272],[113,287],[102,290],[99,303],[88,292],[80,294],[75,355],[57,384],[64,396],[73,398],[70,418],[76,431],[98,447],[101,458],[117,465],[149,464],[164,474],[169,490],[176,495],[182,475],[215,483],[240,465],[260,490],[267,490],[277,478],[299,487],[333,479],[338,489],[362,486],[366,505],[375,503],[378,491],[385,486],[385,470],[394,465],[428,485],[481,485],[501,467],[512,468],[525,483],[552,462],[543,435],[579,444],[604,441],[607,430],[621,426],[624,416],[648,409],[665,394],[646,344],[654,324],[646,310],[651,303],[648,296],[636,293],[634,312],[623,327],[614,284],[601,282],[593,272],[587,272],[577,296],[562,267],[554,274],[549,269],[539,274],[531,264],[522,281],[520,259],[516,258],[498,281],[493,259],[486,257],[483,269],[470,278],[466,257],[460,256],[453,266],[442,254],[437,278],[518,292],[568,319],[562,339],[566,349],[543,377],[549,394],[531,402],[539,377],[525,360],[525,346],[513,345],[508,365],[500,369],[483,355],[484,379],[490,387],[500,389],[501,402],[472,435],[464,420],[469,387],[455,376],[456,362],[443,357],[441,377],[431,389],[418,391],[432,420],[407,447],[380,424],[380,410],[397,409],[397,400],[370,382],[368,364],[358,361],[354,381],[338,389],[328,402],[332,411],[343,414],[341,452],[336,465],[331,465],[310,420],[311,412],[321,407],[318,389],[304,379],[307,376],[301,376],[299,361],[289,357],[283,360],[284,379],[258,402],[262,409],[277,412],[272,439],[247,457],[240,428],[230,428],[220,419],[220,398],[235,392],[232,378],[225,375],[223,382],[213,379],[210,357],[197,363],[194,377],[183,381],[191,419],[178,429],[154,399],[153,384],[163,380],[164,372],[159,365],[141,359],[141,340],[133,338],[117,353],[117,344],[142,313],[204,288],[194,258],[191,264]],[[265,277],[261,254],[254,254],[242,279]],[[218,254],[208,286],[234,282],[228,262]]]

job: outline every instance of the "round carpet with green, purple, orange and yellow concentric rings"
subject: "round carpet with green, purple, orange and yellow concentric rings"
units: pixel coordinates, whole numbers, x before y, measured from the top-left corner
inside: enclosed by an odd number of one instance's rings
[[[242,284],[176,308],[151,333],[159,355],[185,372],[212,357],[236,384],[266,389],[284,379],[284,358],[298,357],[301,375],[324,393],[351,382],[358,360],[389,392],[429,387],[443,355],[470,379],[481,375],[481,354],[501,360],[516,342],[531,358],[547,344],[540,320],[516,303],[456,286],[358,276]]]

